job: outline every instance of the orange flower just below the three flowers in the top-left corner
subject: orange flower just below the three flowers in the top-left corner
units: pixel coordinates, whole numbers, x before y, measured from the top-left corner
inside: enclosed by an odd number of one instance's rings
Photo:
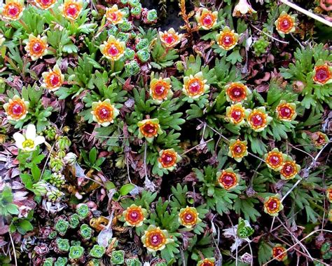
[[[32,60],[43,58],[43,55],[47,54],[48,43],[46,36],[41,37],[40,35],[29,34],[29,39],[25,43],[25,51],[27,51]]]

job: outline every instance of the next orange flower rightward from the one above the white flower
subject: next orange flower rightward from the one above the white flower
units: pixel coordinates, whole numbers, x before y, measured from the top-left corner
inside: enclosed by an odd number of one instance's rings
[[[104,101],[99,100],[99,102],[92,102],[92,119],[101,126],[109,126],[109,124],[113,123],[119,113],[119,110],[111,105],[111,101],[109,99]]]

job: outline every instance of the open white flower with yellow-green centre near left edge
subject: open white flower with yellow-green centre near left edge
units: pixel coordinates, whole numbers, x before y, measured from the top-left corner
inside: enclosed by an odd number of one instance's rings
[[[36,126],[33,124],[29,124],[27,126],[27,131],[24,135],[21,133],[14,133],[13,138],[15,140],[15,145],[24,150],[25,152],[31,152],[36,147],[43,142],[45,142],[45,138],[41,135],[36,135]]]

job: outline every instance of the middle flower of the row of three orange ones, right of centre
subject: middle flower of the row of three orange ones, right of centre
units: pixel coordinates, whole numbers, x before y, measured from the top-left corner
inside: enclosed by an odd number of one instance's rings
[[[272,121],[272,117],[269,117],[265,113],[265,107],[258,107],[254,110],[247,109],[245,110],[245,114],[249,126],[256,132],[263,131],[270,124],[270,121]]]

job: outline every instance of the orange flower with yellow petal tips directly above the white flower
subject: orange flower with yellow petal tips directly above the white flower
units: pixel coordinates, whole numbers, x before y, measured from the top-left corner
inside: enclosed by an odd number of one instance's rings
[[[13,121],[25,119],[25,117],[27,117],[28,108],[29,102],[25,101],[24,98],[21,99],[18,95],[14,95],[13,99],[9,99],[9,101],[4,104],[7,119]]]

